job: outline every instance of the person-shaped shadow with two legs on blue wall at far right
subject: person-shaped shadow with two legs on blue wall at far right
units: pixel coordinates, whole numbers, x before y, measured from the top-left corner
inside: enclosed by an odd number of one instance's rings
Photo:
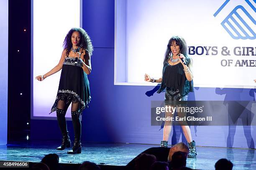
[[[251,136],[251,122],[254,114],[251,112],[251,109],[247,109],[252,107],[250,101],[255,101],[254,92],[256,92],[256,89],[215,89],[216,94],[225,95],[223,104],[228,108],[227,147],[233,147],[236,126],[238,120],[241,119],[247,146],[248,148],[254,149],[254,141]],[[239,101],[245,101],[243,103],[245,103],[246,106]],[[246,103],[246,101],[248,102]],[[250,106],[248,106],[248,104]]]

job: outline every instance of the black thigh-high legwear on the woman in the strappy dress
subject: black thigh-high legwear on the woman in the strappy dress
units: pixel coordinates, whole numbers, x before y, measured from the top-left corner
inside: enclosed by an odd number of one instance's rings
[[[57,103],[57,120],[59,124],[59,128],[61,130],[61,134],[63,136],[67,136],[67,122],[66,122],[66,112],[69,107],[69,104],[66,104],[63,100],[59,100]],[[80,121],[80,114],[78,112],[79,103],[72,103],[71,105],[71,117],[72,123],[74,128],[74,137],[75,140],[80,141],[81,139],[81,121]]]

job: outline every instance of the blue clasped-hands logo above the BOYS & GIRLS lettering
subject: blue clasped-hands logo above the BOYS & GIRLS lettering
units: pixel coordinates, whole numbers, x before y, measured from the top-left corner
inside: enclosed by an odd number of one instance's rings
[[[225,5],[227,5],[227,3],[230,0],[226,0],[221,6],[220,8],[214,13],[214,17],[216,17],[218,15],[218,13],[220,13],[220,11],[225,7]],[[256,8],[255,8],[255,4],[251,4],[251,2],[249,0],[245,0],[246,3],[248,3],[248,5],[253,9],[254,14],[256,13]],[[253,0],[254,3],[256,3],[256,0]],[[245,15],[248,18],[243,18]],[[233,15],[233,16],[232,16]],[[241,15],[243,17],[241,17]],[[234,16],[236,16],[234,18]],[[256,33],[253,31],[253,29],[248,25],[248,23],[246,23],[245,19],[249,19],[253,24],[254,28],[256,25],[256,21],[255,19],[248,13],[248,11],[241,5],[236,6],[231,12],[230,14],[228,14],[228,16],[221,22],[221,25],[223,26],[223,28],[229,33],[229,35],[233,38],[233,39],[255,39],[256,38]],[[233,21],[232,23],[230,21]],[[242,33],[242,34],[241,34]]]

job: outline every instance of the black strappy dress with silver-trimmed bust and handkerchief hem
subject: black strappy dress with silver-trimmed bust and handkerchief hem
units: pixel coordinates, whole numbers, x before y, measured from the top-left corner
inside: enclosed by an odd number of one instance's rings
[[[64,60],[59,89],[51,112],[56,111],[59,100],[63,100],[65,104],[79,102],[78,114],[88,107],[91,100],[87,74],[83,71],[81,64],[75,63],[74,57],[66,57]]]

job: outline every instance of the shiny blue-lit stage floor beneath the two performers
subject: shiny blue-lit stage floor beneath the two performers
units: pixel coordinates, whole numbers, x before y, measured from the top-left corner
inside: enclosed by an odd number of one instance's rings
[[[124,143],[86,143],[82,142],[82,153],[69,155],[66,148],[58,151],[60,141],[33,142],[33,144],[15,144],[0,146],[0,160],[16,160],[40,162],[49,154],[59,155],[59,162],[82,163],[86,160],[103,165],[126,165],[134,157],[149,147],[158,145],[124,144]],[[212,170],[215,162],[220,158],[227,158],[233,162],[233,170],[256,169],[256,150],[230,149],[217,147],[197,147],[197,158],[188,158],[187,167],[192,169]]]

